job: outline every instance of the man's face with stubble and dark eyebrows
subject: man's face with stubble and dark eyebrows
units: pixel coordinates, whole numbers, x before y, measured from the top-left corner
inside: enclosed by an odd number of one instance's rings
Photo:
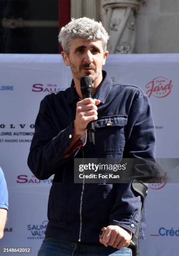
[[[102,66],[108,51],[104,53],[101,40],[89,41],[86,38],[75,38],[69,48],[69,55],[61,53],[64,62],[71,67],[74,81],[90,76],[92,82],[102,77]]]

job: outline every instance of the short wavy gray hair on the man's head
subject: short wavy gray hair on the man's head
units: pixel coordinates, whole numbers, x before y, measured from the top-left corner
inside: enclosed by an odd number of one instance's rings
[[[107,40],[109,39],[107,31],[105,31],[101,22],[97,22],[94,19],[86,17],[72,18],[66,26],[61,28],[59,43],[61,43],[63,50],[67,54],[69,54],[69,47],[72,41],[77,37],[84,37],[87,40],[101,40],[104,51],[107,49]]]

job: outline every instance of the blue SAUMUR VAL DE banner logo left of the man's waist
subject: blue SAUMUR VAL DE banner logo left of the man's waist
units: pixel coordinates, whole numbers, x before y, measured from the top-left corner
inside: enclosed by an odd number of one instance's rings
[[[44,220],[42,224],[29,224],[27,225],[27,230],[30,232],[30,235],[27,239],[43,239],[46,232],[48,221]]]

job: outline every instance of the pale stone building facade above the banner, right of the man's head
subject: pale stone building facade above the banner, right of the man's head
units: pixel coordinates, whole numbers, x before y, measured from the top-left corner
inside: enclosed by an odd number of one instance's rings
[[[71,0],[71,17],[101,20],[113,54],[179,52],[179,0]]]

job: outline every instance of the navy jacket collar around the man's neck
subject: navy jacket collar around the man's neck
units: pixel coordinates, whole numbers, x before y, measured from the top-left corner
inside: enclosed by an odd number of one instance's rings
[[[105,103],[105,100],[112,88],[113,82],[109,76],[109,74],[102,70],[102,77],[103,77],[103,81],[101,82],[101,84],[99,85],[99,87],[97,88],[97,91],[95,92],[95,95],[93,95],[93,98],[100,100],[101,103]],[[70,87],[70,92],[69,92],[69,97],[67,99],[67,102],[69,104],[71,104],[72,102],[74,102],[74,100],[78,100],[79,96],[77,94],[77,91],[74,87],[74,80],[72,79],[72,83],[71,83],[71,87]]]

